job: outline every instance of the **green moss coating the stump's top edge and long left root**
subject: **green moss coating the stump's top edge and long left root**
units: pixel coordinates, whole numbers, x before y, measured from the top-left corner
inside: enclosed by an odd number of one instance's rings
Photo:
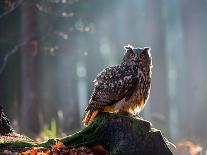
[[[60,139],[49,139],[46,142],[9,142],[9,143],[2,143],[0,144],[0,148],[9,148],[9,149],[17,149],[17,148],[31,148],[31,147],[45,147],[49,148],[56,143],[56,140],[62,141],[67,146],[81,146],[87,145],[87,143],[91,143],[92,141],[97,140],[97,135],[102,132],[103,125],[110,119],[132,119],[129,116],[122,115],[122,114],[112,114],[112,113],[104,113],[98,115],[94,121],[87,127],[81,131],[78,131],[72,135],[60,138]],[[135,120],[136,121],[136,120]],[[143,126],[144,128],[140,128]],[[132,123],[132,129],[135,133],[142,134],[143,132],[148,132],[150,128],[150,123],[146,123],[146,121],[137,121],[136,123]]]

